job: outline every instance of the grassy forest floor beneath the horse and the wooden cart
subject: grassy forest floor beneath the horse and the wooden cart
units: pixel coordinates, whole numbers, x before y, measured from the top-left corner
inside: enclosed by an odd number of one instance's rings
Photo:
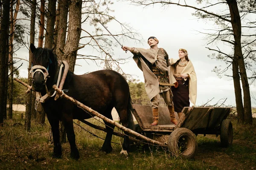
[[[23,113],[24,114],[24,113]],[[220,147],[220,137],[214,135],[198,135],[198,153],[195,160],[182,160],[173,157],[165,149],[158,147],[134,146],[128,157],[119,154],[121,141],[113,136],[113,152],[105,154],[99,149],[103,140],[90,135],[81,127],[74,125],[76,144],[80,159],[70,159],[69,143],[62,144],[61,159],[51,157],[53,146],[50,140],[50,126],[41,126],[32,121],[31,130],[24,130],[24,119],[21,112],[14,112],[14,119],[4,122],[0,127],[0,169],[50,169],[50,170],[222,170],[222,169],[256,169],[256,119],[253,125],[233,123],[232,147]],[[95,119],[90,122],[101,125]],[[77,122],[75,120],[75,122]],[[78,122],[79,123],[79,122]],[[88,127],[80,122],[88,131],[105,138],[105,133]]]

